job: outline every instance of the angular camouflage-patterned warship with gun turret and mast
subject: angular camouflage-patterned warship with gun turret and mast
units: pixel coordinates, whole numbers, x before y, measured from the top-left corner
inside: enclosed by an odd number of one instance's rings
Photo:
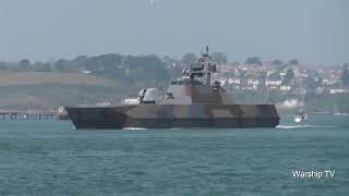
[[[237,105],[212,82],[217,65],[203,53],[196,63],[171,81],[166,94],[156,88],[140,91],[122,105],[67,107],[76,128],[172,128],[172,127],[275,127],[279,115],[275,105]]]

